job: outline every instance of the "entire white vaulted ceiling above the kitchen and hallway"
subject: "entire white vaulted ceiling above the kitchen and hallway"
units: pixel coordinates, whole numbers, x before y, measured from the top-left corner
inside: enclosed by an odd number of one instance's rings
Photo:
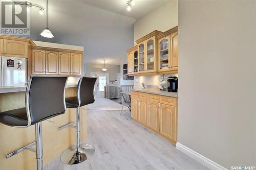
[[[170,0],[135,0],[128,12],[126,0],[49,0],[49,29],[54,38],[40,36],[46,16],[30,10],[30,37],[38,41],[84,46],[84,63],[118,65],[133,45],[133,24]],[[46,0],[30,1],[46,7]],[[118,14],[117,14],[118,13]]]

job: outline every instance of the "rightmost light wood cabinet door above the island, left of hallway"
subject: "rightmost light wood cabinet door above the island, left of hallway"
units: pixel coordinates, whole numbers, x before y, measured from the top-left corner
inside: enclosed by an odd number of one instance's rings
[[[82,55],[71,53],[71,75],[82,74]]]

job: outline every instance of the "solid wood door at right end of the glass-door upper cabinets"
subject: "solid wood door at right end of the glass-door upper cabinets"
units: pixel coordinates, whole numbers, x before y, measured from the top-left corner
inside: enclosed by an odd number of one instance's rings
[[[178,33],[170,35],[170,49],[172,70],[178,70]]]

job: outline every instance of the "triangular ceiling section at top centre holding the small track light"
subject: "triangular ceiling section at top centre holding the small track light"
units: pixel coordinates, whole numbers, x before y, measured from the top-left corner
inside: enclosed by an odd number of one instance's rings
[[[138,19],[171,0],[135,0],[131,11],[126,10],[127,0],[78,0],[81,3]]]

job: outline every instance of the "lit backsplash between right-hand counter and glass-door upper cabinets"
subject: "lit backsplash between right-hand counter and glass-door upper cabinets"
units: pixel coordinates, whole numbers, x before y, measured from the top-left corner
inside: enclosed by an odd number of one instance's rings
[[[145,84],[145,88],[156,88],[160,85],[160,82],[158,78],[159,75],[148,75],[148,76],[134,76],[134,88],[142,88],[141,83]],[[167,74],[167,77],[170,76],[176,76],[178,77],[178,74]]]

